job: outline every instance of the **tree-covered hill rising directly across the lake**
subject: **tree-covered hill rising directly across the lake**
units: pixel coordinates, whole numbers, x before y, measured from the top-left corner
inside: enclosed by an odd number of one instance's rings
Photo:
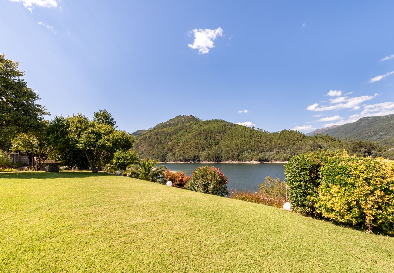
[[[328,135],[305,136],[292,130],[269,133],[224,120],[177,116],[136,136],[141,158],[160,161],[286,161],[317,149],[343,149],[360,155],[381,155],[374,143],[349,143]],[[360,148],[361,147],[361,148]],[[362,151],[359,151],[362,149]]]

